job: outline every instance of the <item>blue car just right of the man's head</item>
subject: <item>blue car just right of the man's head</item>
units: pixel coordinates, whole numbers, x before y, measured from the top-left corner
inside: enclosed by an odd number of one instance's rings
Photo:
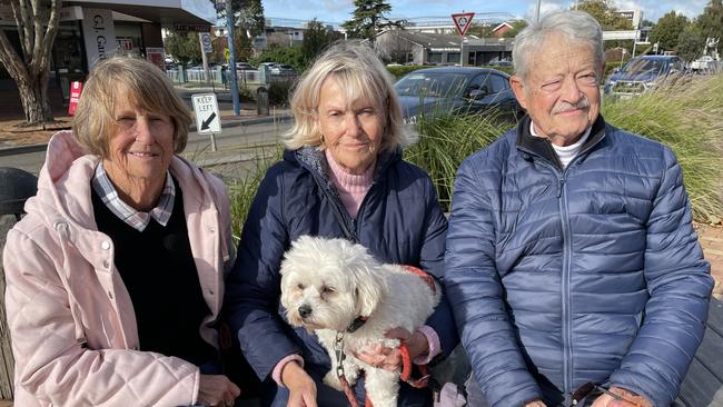
[[[683,73],[685,66],[676,56],[642,56],[615,69],[605,83],[605,95],[630,98],[653,90],[670,76]]]

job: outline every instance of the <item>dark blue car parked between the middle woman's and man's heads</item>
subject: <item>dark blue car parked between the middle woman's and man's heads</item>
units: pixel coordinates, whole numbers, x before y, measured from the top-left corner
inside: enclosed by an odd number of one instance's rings
[[[415,123],[420,115],[474,113],[496,108],[516,119],[523,112],[509,87],[509,76],[496,69],[425,68],[407,73],[394,88],[406,123]]]

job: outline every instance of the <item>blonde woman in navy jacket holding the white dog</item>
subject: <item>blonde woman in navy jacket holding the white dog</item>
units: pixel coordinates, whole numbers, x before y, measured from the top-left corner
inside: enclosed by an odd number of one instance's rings
[[[343,406],[344,394],[320,381],[331,368],[326,351],[313,334],[284,320],[284,252],[303,235],[347,238],[380,261],[442,279],[447,222],[428,175],[402,160],[408,130],[390,76],[369,47],[339,43],[325,52],[301,78],[291,108],[288,150],[256,195],[225,307],[246,358],[270,384],[265,404]],[[389,335],[406,339],[422,364],[458,341],[444,298],[418,331]],[[398,350],[388,348],[360,357],[389,369],[400,363]],[[354,390],[361,404],[363,380]],[[399,404],[425,406],[432,398],[403,384]]]

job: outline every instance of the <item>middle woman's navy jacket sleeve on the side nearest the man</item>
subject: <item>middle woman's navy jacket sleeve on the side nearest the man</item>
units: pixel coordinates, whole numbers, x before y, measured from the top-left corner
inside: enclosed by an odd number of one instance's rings
[[[429,316],[426,325],[435,330],[439,338],[442,351],[447,356],[459,343],[449,300],[444,292],[444,255],[447,219],[442,214],[436,191],[429,178],[426,178],[426,207],[428,208],[427,228],[423,237],[424,242],[422,245],[419,262],[422,268],[432,272],[443,287],[439,305],[435,308],[434,314]]]

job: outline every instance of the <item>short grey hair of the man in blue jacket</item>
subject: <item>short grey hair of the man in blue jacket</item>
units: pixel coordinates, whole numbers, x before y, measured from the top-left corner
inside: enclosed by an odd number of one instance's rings
[[[597,20],[584,11],[558,10],[545,14],[539,21],[525,27],[515,37],[512,60],[515,75],[525,79],[529,73],[529,59],[534,58],[551,34],[562,34],[571,42],[588,44],[595,52],[597,73],[605,62],[603,30]]]

